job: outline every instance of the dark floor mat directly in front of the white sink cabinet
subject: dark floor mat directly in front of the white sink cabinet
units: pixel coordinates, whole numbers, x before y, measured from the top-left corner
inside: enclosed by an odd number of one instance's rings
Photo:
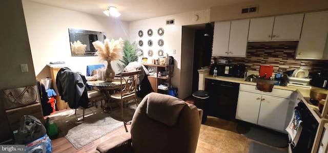
[[[275,130],[250,123],[238,123],[237,132],[249,139],[256,140],[274,147],[287,147],[289,142],[288,134],[283,134]]]

